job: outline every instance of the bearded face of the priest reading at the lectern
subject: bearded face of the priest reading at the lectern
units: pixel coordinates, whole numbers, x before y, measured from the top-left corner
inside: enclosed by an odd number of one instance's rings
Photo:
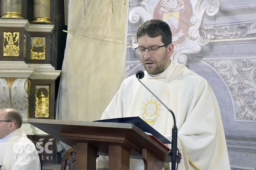
[[[147,48],[153,46],[162,46],[165,45],[161,41],[161,36],[151,38],[147,35],[143,35],[138,38],[139,47]],[[173,52],[173,44],[169,44],[166,47],[160,47],[155,54],[152,54],[146,49],[144,55],[140,55],[141,62],[150,74],[159,74],[169,66],[170,56]]]

